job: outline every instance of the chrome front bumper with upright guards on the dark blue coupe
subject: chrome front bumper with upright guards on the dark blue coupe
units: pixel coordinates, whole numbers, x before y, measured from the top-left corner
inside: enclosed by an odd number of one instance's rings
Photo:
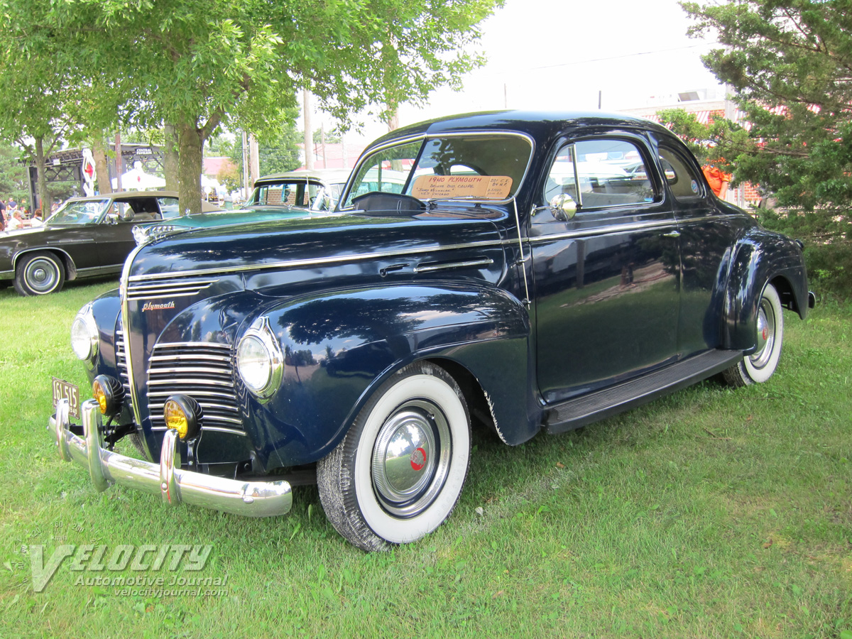
[[[235,515],[271,517],[285,515],[293,496],[288,481],[240,481],[175,468],[177,433],[166,431],[159,463],[151,463],[107,451],[101,435],[101,410],[95,400],[81,406],[83,437],[74,435],[68,415],[68,400],[60,400],[48,429],[55,435],[60,458],[89,469],[99,491],[112,484],[159,493],[169,504],[193,504]]]

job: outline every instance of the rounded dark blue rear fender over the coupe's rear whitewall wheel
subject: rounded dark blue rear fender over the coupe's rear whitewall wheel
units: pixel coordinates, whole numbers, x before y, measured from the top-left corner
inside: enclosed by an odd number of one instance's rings
[[[804,320],[808,315],[808,275],[802,249],[779,233],[755,228],[740,239],[725,294],[725,348],[751,353],[757,346],[757,307],[771,282],[781,301]]]

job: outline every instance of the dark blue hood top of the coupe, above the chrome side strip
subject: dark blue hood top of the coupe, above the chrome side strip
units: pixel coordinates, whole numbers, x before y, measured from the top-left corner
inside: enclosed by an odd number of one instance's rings
[[[144,245],[128,264],[131,279],[256,272],[351,264],[394,256],[498,245],[501,223],[482,217],[312,216],[222,228],[197,228]],[[515,231],[516,233],[516,231]]]

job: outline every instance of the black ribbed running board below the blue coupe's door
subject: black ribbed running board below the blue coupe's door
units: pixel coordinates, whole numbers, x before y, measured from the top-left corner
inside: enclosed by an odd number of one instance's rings
[[[742,359],[739,350],[711,350],[608,389],[563,401],[544,412],[544,429],[563,433],[656,400],[716,375]]]

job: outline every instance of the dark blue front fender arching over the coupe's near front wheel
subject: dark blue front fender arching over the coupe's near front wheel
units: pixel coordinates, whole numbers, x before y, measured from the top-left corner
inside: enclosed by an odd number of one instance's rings
[[[268,468],[325,457],[387,377],[426,358],[479,376],[499,422],[527,421],[529,317],[500,289],[430,283],[303,296],[247,318],[240,332],[261,315],[285,354],[278,393],[266,404],[248,397]]]

